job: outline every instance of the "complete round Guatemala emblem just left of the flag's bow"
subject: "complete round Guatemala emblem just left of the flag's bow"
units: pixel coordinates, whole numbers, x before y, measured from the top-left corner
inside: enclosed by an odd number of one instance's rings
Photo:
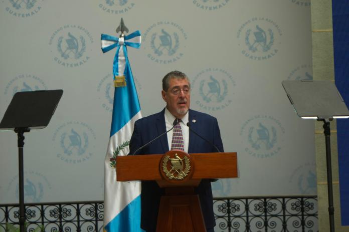
[[[91,33],[78,25],[58,28],[49,41],[54,62],[66,68],[79,67],[88,62],[92,43]]]

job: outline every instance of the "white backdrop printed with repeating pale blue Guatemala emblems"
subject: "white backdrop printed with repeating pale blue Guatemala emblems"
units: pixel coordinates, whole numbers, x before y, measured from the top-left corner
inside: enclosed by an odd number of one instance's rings
[[[100,34],[123,17],[143,116],[160,111],[161,79],[185,72],[191,108],[218,118],[237,179],[215,196],[316,194],[314,125],[281,86],[312,79],[310,0],[0,1],[0,118],[14,93],[63,89],[49,126],[25,134],[26,202],[103,199],[112,61]],[[17,135],[0,132],[0,202],[18,202]]]

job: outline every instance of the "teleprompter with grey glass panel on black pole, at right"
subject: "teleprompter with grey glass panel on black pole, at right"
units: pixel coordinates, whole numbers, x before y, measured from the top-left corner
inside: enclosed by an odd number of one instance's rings
[[[332,81],[283,81],[282,86],[299,117],[323,122],[329,229],[334,232],[330,121],[334,118],[349,118],[349,111]]]

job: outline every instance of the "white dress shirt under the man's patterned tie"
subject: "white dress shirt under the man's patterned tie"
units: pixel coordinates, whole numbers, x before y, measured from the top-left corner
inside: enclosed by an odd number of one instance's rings
[[[166,131],[171,129],[173,126],[173,122],[175,121],[176,117],[173,116],[167,108],[165,108],[165,124],[166,124]],[[184,115],[183,118],[181,118],[180,125],[182,127],[182,133],[183,133],[183,140],[184,140],[184,151],[188,153],[188,147],[189,147],[189,127],[187,126],[187,123],[189,121],[189,110]],[[173,131],[173,130],[172,130]],[[171,150],[171,144],[172,144],[172,135],[173,132],[170,131],[167,133],[167,142],[168,142],[168,150]]]

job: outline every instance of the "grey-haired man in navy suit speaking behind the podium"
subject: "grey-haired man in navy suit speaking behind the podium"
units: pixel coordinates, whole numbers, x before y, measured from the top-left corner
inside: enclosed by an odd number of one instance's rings
[[[190,107],[190,82],[188,77],[179,71],[173,71],[162,79],[162,99],[166,107],[159,113],[137,120],[130,141],[130,154],[146,144],[156,136],[169,130],[174,121],[181,119],[184,151],[188,153],[223,152],[223,144],[217,119]],[[193,131],[210,141],[205,141],[189,130],[187,123]],[[164,154],[175,144],[172,141],[172,131],[154,140],[136,154]],[[177,148],[176,148],[177,149]],[[201,208],[204,215],[207,231],[214,231],[216,225],[213,213],[213,199],[210,180],[203,179],[195,192],[199,194]],[[160,197],[164,194],[155,181],[142,181],[141,189],[141,227],[147,232],[156,230],[157,213]]]

